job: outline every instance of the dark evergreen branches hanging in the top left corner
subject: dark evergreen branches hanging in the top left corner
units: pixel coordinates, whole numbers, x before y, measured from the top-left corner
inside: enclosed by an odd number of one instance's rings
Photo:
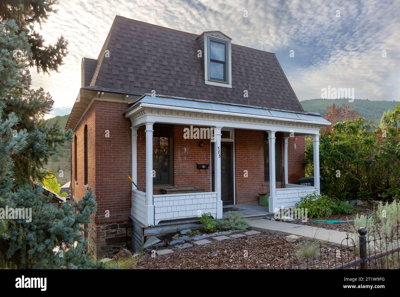
[[[38,72],[58,71],[58,66],[63,64],[67,55],[68,41],[60,36],[56,44],[45,45],[43,36],[35,29],[35,24],[45,22],[52,12],[57,0],[2,0],[0,4],[0,21],[15,20],[18,25],[18,34],[25,32],[31,44],[29,66],[36,66]]]

